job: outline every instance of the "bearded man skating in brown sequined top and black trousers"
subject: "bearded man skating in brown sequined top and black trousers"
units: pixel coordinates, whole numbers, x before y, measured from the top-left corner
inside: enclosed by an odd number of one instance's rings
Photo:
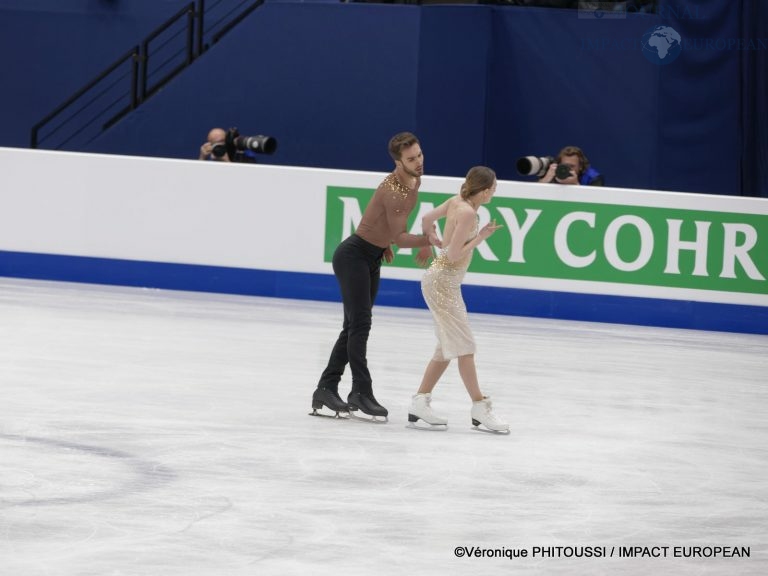
[[[419,247],[416,260],[425,265],[432,256],[432,245],[440,246],[434,228],[428,235],[406,232],[424,173],[424,155],[418,138],[410,132],[396,134],[389,141],[389,154],[395,170],[379,184],[355,233],[341,242],[333,254],[333,273],[341,289],[344,323],[312,395],[313,414],[326,406],[336,412],[336,416],[339,412],[360,410],[371,420],[383,417],[386,421],[389,412],[373,395],[366,359],[381,260],[392,262],[392,244],[396,244],[401,248]],[[352,390],[344,402],[339,396],[339,381],[347,364],[352,370]]]

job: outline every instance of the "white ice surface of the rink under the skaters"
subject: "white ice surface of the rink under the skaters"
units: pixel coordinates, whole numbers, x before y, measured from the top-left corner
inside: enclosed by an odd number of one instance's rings
[[[367,424],[307,415],[340,304],[0,279],[0,574],[768,574],[768,337],[471,321],[508,436],[455,365],[406,427],[426,310]]]

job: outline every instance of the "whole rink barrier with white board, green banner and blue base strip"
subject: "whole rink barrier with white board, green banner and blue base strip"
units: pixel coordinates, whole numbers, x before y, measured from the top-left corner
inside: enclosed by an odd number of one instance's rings
[[[388,166],[389,159],[382,161]],[[331,259],[384,172],[0,148],[0,276],[338,301]],[[408,223],[456,194],[424,176]],[[768,201],[498,182],[472,312],[768,333]],[[424,306],[395,247],[377,304]]]

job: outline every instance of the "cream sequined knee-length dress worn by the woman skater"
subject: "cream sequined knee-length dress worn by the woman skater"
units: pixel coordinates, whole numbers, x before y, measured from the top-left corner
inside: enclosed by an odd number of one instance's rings
[[[477,235],[477,224],[474,233]],[[475,338],[469,327],[467,307],[461,296],[461,282],[472,261],[470,251],[463,260],[451,262],[441,251],[421,279],[421,293],[435,320],[437,347],[433,360],[442,362],[475,353]]]

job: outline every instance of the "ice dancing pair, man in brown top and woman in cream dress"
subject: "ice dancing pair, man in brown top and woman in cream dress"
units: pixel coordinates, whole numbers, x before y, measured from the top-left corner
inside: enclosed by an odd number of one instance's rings
[[[445,418],[432,412],[430,402],[440,377],[451,360],[457,359],[459,374],[473,402],[472,424],[493,432],[508,432],[509,425],[495,416],[490,398],[480,390],[475,368],[475,340],[461,294],[461,284],[475,248],[501,228],[495,220],[480,228],[478,218],[478,208],[488,204],[496,192],[496,174],[485,166],[473,167],[459,194],[422,217],[425,246],[405,231],[404,220],[415,206],[421,183],[417,177],[423,171],[421,149],[412,141],[402,152],[402,156],[392,154],[395,172],[387,176],[374,193],[356,233],[342,242],[334,254],[334,273],[344,303],[344,325],[312,398],[313,414],[324,405],[337,413],[346,408],[351,412],[360,410],[374,419],[387,418],[387,409],[373,396],[365,359],[371,309],[379,284],[379,265],[382,258],[389,262],[393,256],[386,242],[381,239],[370,242],[365,238],[370,239],[371,230],[376,226],[383,226],[383,237],[392,235],[392,243],[404,247],[421,246],[417,259],[424,259],[424,248],[428,255],[432,254],[432,246],[441,249],[421,281],[424,300],[435,321],[438,344],[413,397],[409,421],[421,420],[430,426],[447,425]],[[403,185],[406,177],[412,177],[409,185]],[[442,240],[437,236],[436,222],[439,219],[445,219]],[[390,229],[392,222],[397,222],[395,228],[400,231],[396,236]],[[352,369],[352,391],[345,404],[338,395],[338,383],[347,363]]]

